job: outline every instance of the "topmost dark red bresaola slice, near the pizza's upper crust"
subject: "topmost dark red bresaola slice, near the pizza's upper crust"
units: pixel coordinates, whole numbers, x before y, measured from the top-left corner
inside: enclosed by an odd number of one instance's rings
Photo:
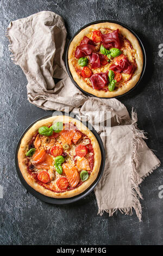
[[[119,37],[119,29],[117,29],[114,32],[108,33],[108,34],[101,34],[103,46],[106,49],[109,48],[121,48],[121,41]]]

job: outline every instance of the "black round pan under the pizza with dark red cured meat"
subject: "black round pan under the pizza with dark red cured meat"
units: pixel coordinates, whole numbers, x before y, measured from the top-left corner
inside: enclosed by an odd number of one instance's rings
[[[118,25],[121,25],[121,26],[123,26],[124,28],[127,28],[131,33],[133,33],[133,34],[135,35],[135,37],[136,37],[137,40],[139,41],[139,44],[140,44],[140,47],[141,47],[141,50],[142,50],[142,53],[143,53],[143,68],[142,68],[142,72],[141,72],[141,76],[140,76],[139,81],[138,81],[138,82],[135,84],[135,86],[134,86],[133,88],[131,88],[127,93],[124,93],[124,94],[122,94],[122,95],[115,96],[115,98],[118,98],[118,97],[122,97],[122,96],[124,96],[124,95],[127,95],[128,93],[130,93],[132,90],[134,90],[134,89],[138,86],[138,84],[139,84],[140,81],[142,80],[142,77],[143,77],[143,75],[144,75],[144,73],[145,73],[145,69],[146,69],[146,51],[145,51],[145,47],[143,46],[142,41],[140,40],[139,36],[137,36],[137,34],[136,34],[131,28],[129,28],[128,26],[126,26],[125,24],[123,24],[123,23],[121,23],[121,22],[117,22],[117,21],[112,21],[112,20],[102,20],[102,21],[93,21],[93,22],[91,22],[91,23],[85,25],[84,27],[80,28],[79,31],[78,31],[76,34],[74,34],[74,36],[72,37],[72,39],[70,40],[70,42],[69,42],[69,44],[68,44],[68,46],[67,46],[67,50],[66,50],[66,69],[67,69],[68,75],[69,75],[70,78],[71,78],[71,81],[73,82],[73,84],[74,84],[82,93],[84,93],[85,95],[88,95],[88,96],[97,97],[97,96],[95,96],[95,95],[93,95],[93,94],[91,94],[91,93],[85,92],[85,90],[83,90],[82,88],[80,88],[80,87],[78,86],[78,84],[76,83],[76,81],[74,81],[73,76],[72,76],[71,71],[70,71],[70,68],[69,68],[69,65],[68,65],[68,49],[69,49],[69,46],[70,46],[72,40],[74,39],[74,37],[75,37],[77,34],[79,34],[79,32],[82,31],[82,29],[84,29],[84,28],[86,28],[86,27],[88,27],[88,26],[90,26],[90,25],[97,24],[97,23],[102,23],[102,22],[117,23]],[[111,97],[101,97],[101,99],[111,99]]]

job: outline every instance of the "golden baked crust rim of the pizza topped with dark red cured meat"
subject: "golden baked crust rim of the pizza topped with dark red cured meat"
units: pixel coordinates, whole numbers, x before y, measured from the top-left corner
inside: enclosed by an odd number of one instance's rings
[[[87,83],[83,81],[82,77],[79,77],[76,69],[74,68],[74,65],[72,63],[73,60],[73,51],[74,48],[76,48],[80,41],[83,39],[83,37],[87,34],[89,34],[91,31],[98,30],[100,28],[110,28],[110,29],[119,29],[120,33],[125,36],[130,42],[133,48],[135,49],[135,61],[137,64],[137,69],[134,72],[134,75],[131,77],[131,79],[124,84],[122,87],[117,88],[113,92],[104,92],[103,90],[96,90],[92,87],[88,86]],[[116,23],[110,23],[110,22],[104,22],[104,23],[97,23],[93,24],[89,27],[84,28],[82,31],[80,31],[72,40],[69,49],[68,49],[68,65],[71,71],[71,74],[73,76],[74,81],[78,84],[80,88],[82,88],[85,92],[93,94],[97,97],[115,97],[122,95],[124,93],[127,93],[131,88],[133,88],[136,83],[139,81],[142,68],[143,68],[143,54],[141,47],[139,45],[139,41],[133,35],[127,28],[122,27],[121,25],[118,25]]]

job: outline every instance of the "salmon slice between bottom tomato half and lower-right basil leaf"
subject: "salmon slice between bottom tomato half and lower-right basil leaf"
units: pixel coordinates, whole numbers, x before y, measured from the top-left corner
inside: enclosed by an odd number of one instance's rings
[[[77,167],[71,163],[62,164],[62,169],[66,174],[66,178],[72,187],[76,187],[79,183],[80,177],[77,171]]]

